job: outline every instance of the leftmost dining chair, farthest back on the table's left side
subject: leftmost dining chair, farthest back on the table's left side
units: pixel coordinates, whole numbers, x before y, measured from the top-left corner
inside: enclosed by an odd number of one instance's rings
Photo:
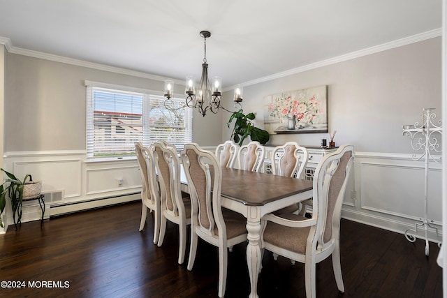
[[[143,146],[140,142],[135,142],[135,153],[140,166],[141,174],[141,221],[140,231],[145,228],[147,209],[154,215],[154,244],[159,241],[160,233],[160,193],[158,183],[155,179],[155,165],[152,155],[152,145]]]

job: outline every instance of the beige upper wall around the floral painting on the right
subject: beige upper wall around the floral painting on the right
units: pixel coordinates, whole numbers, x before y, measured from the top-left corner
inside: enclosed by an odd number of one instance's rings
[[[441,38],[244,87],[244,112],[256,112],[257,124],[263,126],[264,96],[324,84],[336,144],[354,144],[356,151],[413,153],[402,125],[420,121],[424,107],[435,107],[437,119],[442,116]],[[222,140],[228,135],[224,130]],[[271,135],[270,143],[319,145],[323,137],[328,134]]]

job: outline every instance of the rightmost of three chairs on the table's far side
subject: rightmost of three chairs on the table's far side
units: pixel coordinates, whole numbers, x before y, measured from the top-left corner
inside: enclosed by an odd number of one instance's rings
[[[309,154],[305,147],[298,145],[297,142],[286,142],[272,150],[272,174],[304,179],[308,159]],[[312,199],[275,211],[274,214],[295,212],[300,209],[305,211],[307,204],[312,204]]]

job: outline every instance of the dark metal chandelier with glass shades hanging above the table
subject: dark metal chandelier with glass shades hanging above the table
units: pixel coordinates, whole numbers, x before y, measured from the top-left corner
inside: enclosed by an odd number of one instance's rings
[[[221,77],[213,77],[212,82],[208,78],[208,64],[207,64],[207,38],[211,36],[210,31],[200,31],[200,36],[203,37],[204,41],[204,57],[202,64],[202,77],[200,77],[200,82],[196,88],[196,77],[192,75],[186,76],[185,83],[185,94],[186,102],[182,107],[191,107],[198,109],[198,112],[205,117],[205,114],[210,111],[214,114],[219,112],[219,108],[226,110],[221,106],[221,95],[222,95],[222,79]],[[167,98],[165,100],[165,107],[168,110],[178,110],[182,107],[178,107],[173,103],[174,96],[174,81],[165,81],[165,91],[164,96]],[[235,104],[242,102],[242,87],[237,85],[235,88],[233,101]],[[228,111],[228,110],[226,110]],[[231,112],[231,111],[228,111]]]

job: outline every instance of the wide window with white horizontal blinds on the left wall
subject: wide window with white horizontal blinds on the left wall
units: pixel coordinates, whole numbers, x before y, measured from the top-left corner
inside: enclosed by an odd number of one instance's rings
[[[192,112],[181,99],[174,102],[172,111],[162,96],[87,85],[87,158],[133,156],[135,142],[182,149],[192,140]]]

